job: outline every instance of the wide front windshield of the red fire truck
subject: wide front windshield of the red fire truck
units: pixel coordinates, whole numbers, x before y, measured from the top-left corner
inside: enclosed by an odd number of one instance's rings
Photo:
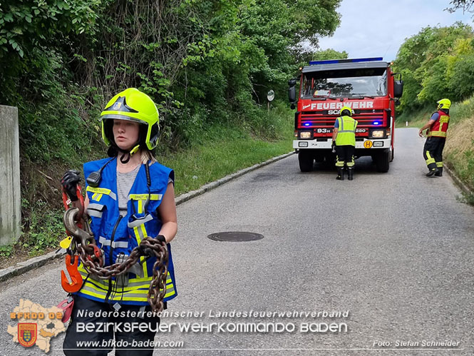
[[[304,73],[302,98],[364,98],[387,95],[386,68]]]

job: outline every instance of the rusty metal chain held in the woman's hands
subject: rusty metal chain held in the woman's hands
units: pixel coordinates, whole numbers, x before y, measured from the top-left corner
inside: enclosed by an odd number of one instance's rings
[[[69,211],[76,209],[76,212]],[[89,274],[96,275],[102,280],[110,280],[118,275],[130,270],[130,268],[140,261],[140,257],[146,256],[156,257],[156,262],[153,265],[153,278],[148,290],[148,303],[153,312],[160,312],[163,310],[163,299],[166,294],[166,277],[168,275],[168,247],[166,243],[155,238],[145,238],[140,242],[136,248],[132,250],[128,258],[123,263],[114,263],[107,267],[103,265],[103,253],[97,245],[91,241],[95,241],[93,234],[86,223],[86,218],[83,216],[78,222],[75,219],[66,218],[66,216],[76,215],[78,208],[69,208],[64,213],[64,225],[74,237],[74,243],[78,255],[81,257],[84,269]],[[85,228],[85,230],[78,228],[78,223]]]

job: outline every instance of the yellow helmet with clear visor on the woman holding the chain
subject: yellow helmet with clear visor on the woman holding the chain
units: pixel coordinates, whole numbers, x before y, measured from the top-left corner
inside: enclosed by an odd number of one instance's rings
[[[145,144],[149,150],[153,150],[158,144],[160,118],[150,96],[142,93],[136,88],[128,88],[115,95],[105,106],[101,113],[102,139],[106,145],[115,145],[113,139],[113,119],[128,120],[141,123],[140,138],[137,146],[132,148],[131,154],[138,151],[140,144]]]

